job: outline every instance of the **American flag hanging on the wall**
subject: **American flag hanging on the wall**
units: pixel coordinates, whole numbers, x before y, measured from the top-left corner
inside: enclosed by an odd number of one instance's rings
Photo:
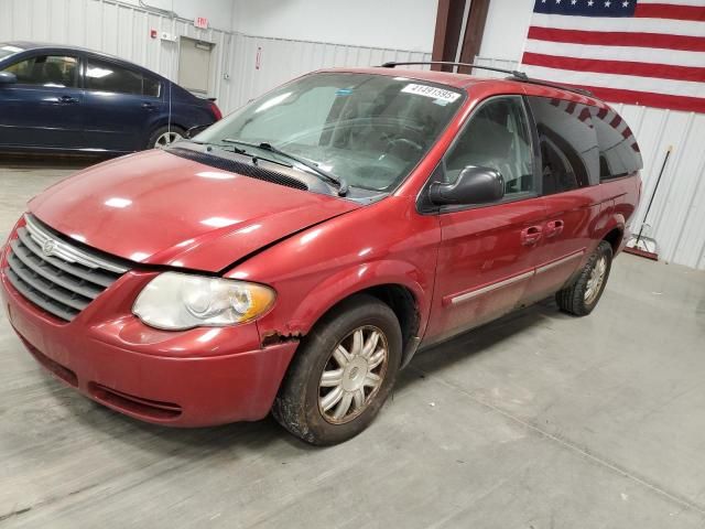
[[[521,63],[608,101],[705,112],[705,0],[535,0]]]

